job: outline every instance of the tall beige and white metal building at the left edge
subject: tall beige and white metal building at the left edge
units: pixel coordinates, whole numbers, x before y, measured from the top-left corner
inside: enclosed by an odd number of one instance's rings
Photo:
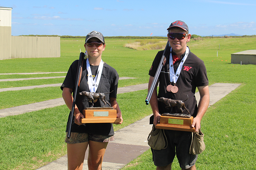
[[[11,10],[0,7],[0,59],[11,59]]]

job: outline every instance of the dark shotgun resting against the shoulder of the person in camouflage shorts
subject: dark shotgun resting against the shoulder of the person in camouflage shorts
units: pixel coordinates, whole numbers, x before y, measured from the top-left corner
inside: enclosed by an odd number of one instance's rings
[[[75,91],[73,91],[73,104],[72,104],[72,109],[71,109],[71,113],[69,115],[69,122],[68,122],[68,134],[67,134],[67,138],[70,138],[70,134],[71,134],[71,125],[72,125],[72,121],[73,121],[73,115],[74,115],[74,111],[75,111],[75,102],[77,100],[77,89],[80,85],[80,77],[82,75],[82,61],[84,60],[84,53],[80,52],[80,56],[79,56],[79,61],[78,61],[78,67],[77,67],[77,75],[76,75],[76,79],[75,79]]]

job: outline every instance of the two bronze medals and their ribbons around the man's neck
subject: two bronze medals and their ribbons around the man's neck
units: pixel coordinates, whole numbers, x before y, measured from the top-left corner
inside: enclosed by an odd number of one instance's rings
[[[169,60],[169,65],[170,65],[170,82],[173,82],[174,86],[168,85],[169,87],[168,86],[166,87],[167,91],[170,90],[172,93],[177,93],[179,91],[179,88],[176,86],[176,82],[177,82],[177,80],[179,78],[179,75],[181,73],[182,66],[183,66],[183,64],[185,63],[185,61],[186,61],[186,59],[188,57],[188,52],[189,52],[189,48],[187,47],[186,48],[185,56],[181,60],[181,63],[179,63],[179,66],[178,66],[178,68],[176,70],[176,73],[174,73],[174,65],[173,65],[173,60],[172,60],[172,48],[171,48],[171,50],[170,50],[170,60]]]

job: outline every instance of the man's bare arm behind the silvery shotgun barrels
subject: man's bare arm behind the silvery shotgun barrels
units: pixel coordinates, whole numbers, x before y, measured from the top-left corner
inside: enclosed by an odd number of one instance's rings
[[[148,89],[150,89],[150,86],[152,84],[154,80],[154,77],[150,76],[149,77],[149,81],[148,81]],[[155,85],[155,88],[152,92],[152,96],[151,96],[151,99],[150,99],[150,106],[151,106],[151,109],[153,111],[153,114],[154,114],[154,125],[156,125],[157,123],[160,122],[160,113],[159,113],[159,110],[158,110],[158,102],[157,102],[157,84],[158,84],[159,81],[157,81],[156,85]]]

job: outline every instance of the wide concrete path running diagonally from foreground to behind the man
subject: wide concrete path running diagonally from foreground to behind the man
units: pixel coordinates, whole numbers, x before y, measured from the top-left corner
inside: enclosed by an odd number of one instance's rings
[[[240,84],[212,84],[209,87],[209,106],[212,106],[239,86]],[[197,100],[200,98],[198,92],[196,93],[196,98]],[[145,104],[145,107],[150,106],[146,106]],[[108,149],[106,150],[102,163],[102,170],[118,170],[150,148],[147,144],[147,137],[152,128],[152,125],[149,125],[150,116],[146,116],[115,132],[115,140],[108,143]],[[83,170],[88,170],[87,156],[88,153],[86,151]],[[38,170],[66,170],[67,161],[67,155],[65,155],[46,166],[42,166]]]

